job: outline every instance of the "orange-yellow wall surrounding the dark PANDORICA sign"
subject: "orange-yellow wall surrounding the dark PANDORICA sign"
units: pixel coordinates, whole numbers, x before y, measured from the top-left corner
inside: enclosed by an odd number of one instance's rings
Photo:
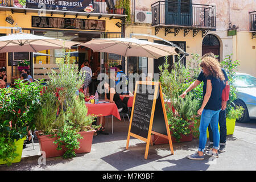
[[[10,24],[5,21],[6,16],[11,15],[13,17],[14,23]],[[15,25],[18,25],[18,27],[21,28],[32,28],[31,27],[31,16],[38,16],[38,13],[27,13],[26,15],[23,13],[14,13],[12,14],[11,11],[0,11],[0,26],[2,27],[15,27]],[[46,14],[44,16],[51,16],[51,14]],[[63,18],[63,15],[55,15],[53,14],[52,17],[61,17]],[[64,18],[75,18],[74,15],[66,15]],[[86,16],[77,16],[77,19],[87,19]],[[97,17],[91,16],[89,19],[95,19],[98,20]],[[121,28],[117,27],[115,23],[120,22],[120,19],[111,19],[109,18],[101,18],[100,20],[105,20],[106,21],[106,32],[121,32]],[[34,28],[36,29],[36,28]],[[58,30],[54,28],[44,28],[46,30]],[[60,29],[59,29],[60,30]],[[72,31],[71,29],[61,29],[61,30],[69,30]],[[87,31],[87,30],[73,30],[73,31]],[[94,31],[94,30],[93,30]],[[26,33],[30,33],[29,31],[23,31]],[[11,30],[10,29],[0,29],[1,34],[10,34]],[[14,31],[15,33],[15,31]],[[7,59],[8,60],[8,59]],[[11,80],[11,67],[8,66],[8,62],[6,62],[7,66],[7,82],[10,82]]]

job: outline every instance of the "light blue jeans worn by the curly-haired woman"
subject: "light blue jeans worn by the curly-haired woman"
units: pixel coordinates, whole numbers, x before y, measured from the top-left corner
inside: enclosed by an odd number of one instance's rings
[[[198,151],[204,152],[205,144],[207,143],[207,127],[210,127],[213,131],[213,148],[218,150],[218,144],[220,143],[220,133],[218,131],[218,115],[220,110],[203,110],[200,121],[200,137]]]

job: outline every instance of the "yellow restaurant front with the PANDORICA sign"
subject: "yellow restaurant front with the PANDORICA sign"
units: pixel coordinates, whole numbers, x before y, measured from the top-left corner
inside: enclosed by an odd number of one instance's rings
[[[0,0],[0,27],[21,27],[22,32],[48,36],[51,38],[88,42],[92,38],[111,38],[123,36],[122,25],[126,15],[115,11],[113,1],[26,1],[26,5],[19,5],[16,1]],[[109,3],[110,2],[110,3]],[[92,4],[90,4],[92,3]],[[90,12],[90,9],[93,11]],[[0,35],[18,33],[11,29],[0,29]],[[71,52],[71,61],[79,66],[84,60],[89,60],[92,71],[101,67],[102,72],[108,69],[113,55],[93,52],[86,47],[73,46],[66,49],[49,49],[39,53],[0,53],[0,67],[7,68],[7,83],[12,76],[19,76],[17,61],[30,61],[31,73],[34,78],[48,78],[47,72],[55,68],[63,55]],[[18,58],[17,55],[19,55]],[[121,59],[119,61],[122,61]]]

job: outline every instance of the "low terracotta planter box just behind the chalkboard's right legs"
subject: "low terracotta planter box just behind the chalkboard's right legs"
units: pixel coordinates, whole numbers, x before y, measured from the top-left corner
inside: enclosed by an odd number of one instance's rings
[[[190,130],[192,127],[193,127],[193,123],[191,123],[191,125],[188,126],[188,128]],[[171,134],[172,143],[177,143],[176,139],[172,136],[171,130],[170,130],[170,134]],[[188,135],[181,135],[180,142],[191,142],[192,140],[193,140],[193,135],[192,135],[192,131],[191,131],[191,133]],[[169,143],[168,139],[159,137],[158,135],[152,135],[152,141],[154,144],[168,144]]]

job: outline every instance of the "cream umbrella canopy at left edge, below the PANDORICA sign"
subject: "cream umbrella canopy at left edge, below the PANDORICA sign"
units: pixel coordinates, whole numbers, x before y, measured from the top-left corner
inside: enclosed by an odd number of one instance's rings
[[[81,43],[19,33],[0,37],[0,52],[38,52],[46,49],[70,48],[75,44]]]

